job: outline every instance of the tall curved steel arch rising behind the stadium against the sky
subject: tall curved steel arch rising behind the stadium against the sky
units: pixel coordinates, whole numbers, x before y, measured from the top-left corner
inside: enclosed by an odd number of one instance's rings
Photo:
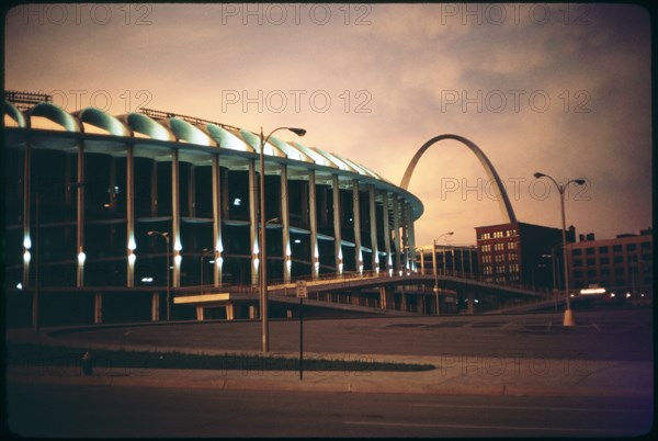
[[[473,151],[475,154],[477,159],[480,161],[480,163],[485,168],[485,171],[487,172],[487,176],[489,177],[489,179],[492,180],[494,182],[496,182],[496,188],[498,189],[498,194],[500,195],[498,203],[499,203],[500,212],[502,213],[502,216],[507,218],[508,223],[515,223],[517,215],[514,214],[514,208],[512,208],[512,204],[510,203],[510,199],[508,197],[504,185],[502,184],[502,181],[498,177],[498,173],[496,172],[494,165],[491,163],[491,161],[489,161],[489,158],[487,158],[487,156],[484,154],[484,151],[480,150],[480,148],[477,145],[475,145],[474,142],[472,142],[463,136],[460,136],[460,135],[453,135],[453,134],[439,135],[439,136],[434,136],[432,139],[428,140],[426,144],[423,144],[423,146],[418,149],[418,151],[416,152],[413,158],[411,158],[409,166],[407,166],[407,170],[405,171],[405,176],[402,177],[402,182],[400,183],[400,186],[405,190],[408,190],[409,182],[411,181],[411,174],[413,174],[413,169],[416,169],[416,165],[420,160],[420,157],[422,156],[422,154],[424,154],[426,150],[428,148],[430,148],[434,143],[438,143],[443,139],[458,140],[460,143],[464,144],[466,147],[468,147],[470,149],[470,151]]]

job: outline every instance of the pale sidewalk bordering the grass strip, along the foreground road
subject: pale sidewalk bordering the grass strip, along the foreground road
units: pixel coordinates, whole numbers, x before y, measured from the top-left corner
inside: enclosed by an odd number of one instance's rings
[[[70,344],[45,333],[11,331],[7,339],[42,344]],[[77,344],[76,344],[77,346]],[[89,347],[89,346],[87,346]],[[118,349],[94,346],[99,349]],[[126,349],[126,348],[123,348]],[[198,353],[185,348],[138,348]],[[204,350],[206,354],[231,353]],[[235,351],[234,351],[235,353]],[[262,358],[298,358],[298,353],[241,351]],[[631,361],[591,361],[569,359],[408,357],[354,353],[305,353],[304,359],[332,359],[365,362],[432,364],[423,372],[320,372],[269,370],[172,370],[95,366],[83,376],[76,366],[8,365],[8,382],[52,383],[104,386],[183,387],[250,391],[314,391],[333,393],[393,393],[445,395],[529,395],[529,396],[651,396],[654,363]]]

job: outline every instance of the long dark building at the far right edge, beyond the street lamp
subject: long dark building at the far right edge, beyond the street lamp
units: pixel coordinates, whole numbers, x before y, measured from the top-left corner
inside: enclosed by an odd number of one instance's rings
[[[597,285],[617,296],[650,297],[654,291],[654,231],[594,240],[593,235],[570,244],[569,269],[576,290]]]

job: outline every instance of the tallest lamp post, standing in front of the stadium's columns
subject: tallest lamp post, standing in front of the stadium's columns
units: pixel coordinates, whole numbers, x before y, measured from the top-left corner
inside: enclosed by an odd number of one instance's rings
[[[263,137],[263,127],[260,133],[260,309],[262,320],[262,339],[263,339],[263,352],[270,350],[270,331],[268,324],[268,273],[266,273],[266,258],[265,252],[265,145],[270,137],[276,131],[291,131],[297,136],[306,135],[306,129],[296,127],[277,127],[274,128],[270,134]]]

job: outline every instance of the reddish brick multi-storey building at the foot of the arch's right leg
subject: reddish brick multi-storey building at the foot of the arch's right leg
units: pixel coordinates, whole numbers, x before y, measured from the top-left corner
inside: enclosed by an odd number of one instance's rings
[[[561,229],[521,222],[476,227],[480,276],[491,283],[561,285]],[[567,241],[576,236],[574,227]]]

